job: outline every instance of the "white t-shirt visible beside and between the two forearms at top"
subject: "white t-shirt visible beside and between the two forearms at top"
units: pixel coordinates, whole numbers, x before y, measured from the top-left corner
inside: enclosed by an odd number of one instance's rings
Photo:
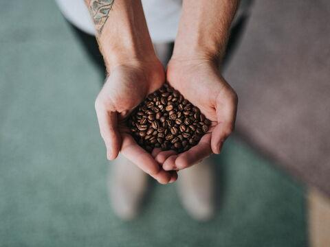
[[[56,0],[68,21],[87,34],[95,34],[94,24],[84,0]],[[154,43],[167,43],[175,40],[181,0],[142,0],[146,23]]]

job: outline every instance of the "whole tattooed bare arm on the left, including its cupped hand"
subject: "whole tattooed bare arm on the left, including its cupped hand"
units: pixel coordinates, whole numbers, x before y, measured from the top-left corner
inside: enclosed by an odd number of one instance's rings
[[[113,160],[121,152],[159,183],[174,182],[176,172],[166,172],[134,141],[122,121],[144,97],[164,83],[164,68],[148,34],[140,0],[87,0],[98,45],[107,67],[107,80],[96,98],[100,133]]]

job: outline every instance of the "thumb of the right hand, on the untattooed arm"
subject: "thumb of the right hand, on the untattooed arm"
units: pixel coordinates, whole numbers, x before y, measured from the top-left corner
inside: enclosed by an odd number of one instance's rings
[[[234,91],[217,97],[217,126],[212,131],[211,148],[215,154],[221,152],[223,142],[234,130],[237,110],[237,95]]]

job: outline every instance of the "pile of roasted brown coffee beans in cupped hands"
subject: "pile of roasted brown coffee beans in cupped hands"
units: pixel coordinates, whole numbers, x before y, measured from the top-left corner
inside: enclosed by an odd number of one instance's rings
[[[148,152],[153,148],[184,152],[199,142],[210,124],[199,108],[169,84],[148,95],[128,121],[135,141]]]

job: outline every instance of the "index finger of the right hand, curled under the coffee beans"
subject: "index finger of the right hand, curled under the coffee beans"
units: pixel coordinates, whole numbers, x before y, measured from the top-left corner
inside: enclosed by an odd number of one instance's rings
[[[211,134],[204,135],[199,143],[194,147],[190,148],[190,150],[179,154],[175,159],[175,167],[176,169],[185,169],[198,163],[212,154],[211,150]]]

